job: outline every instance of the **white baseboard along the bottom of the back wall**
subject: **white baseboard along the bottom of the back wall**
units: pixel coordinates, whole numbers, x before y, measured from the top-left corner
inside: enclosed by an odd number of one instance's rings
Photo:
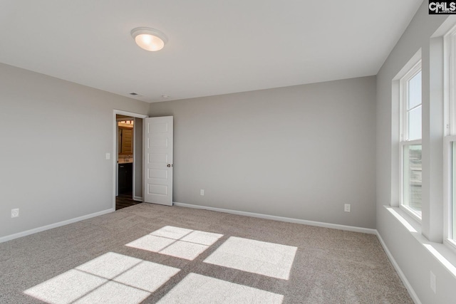
[[[323,223],[320,221],[306,221],[304,219],[291,219],[289,217],[283,217],[283,216],[257,214],[257,213],[246,212],[246,211],[237,211],[237,210],[214,208],[214,207],[208,207],[208,206],[185,204],[185,203],[179,203],[177,201],[174,201],[172,204],[174,204],[175,206],[181,206],[181,207],[187,207],[187,208],[219,211],[219,212],[225,212],[225,213],[229,213],[229,214],[237,214],[237,215],[243,215],[243,216],[252,216],[252,217],[257,217],[259,219],[272,219],[274,221],[286,221],[288,223],[304,224],[304,225],[309,225],[309,226],[318,226],[318,227],[331,228],[331,229],[361,232],[363,234],[377,234],[377,231],[375,229],[368,229],[368,228],[363,228],[363,227],[346,226],[346,225],[339,225],[339,224],[328,224],[328,223]]]

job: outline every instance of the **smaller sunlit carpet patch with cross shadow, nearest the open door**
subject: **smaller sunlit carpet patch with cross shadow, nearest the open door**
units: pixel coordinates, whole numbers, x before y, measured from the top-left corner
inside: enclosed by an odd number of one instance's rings
[[[222,236],[223,234],[164,226],[125,246],[194,260]]]

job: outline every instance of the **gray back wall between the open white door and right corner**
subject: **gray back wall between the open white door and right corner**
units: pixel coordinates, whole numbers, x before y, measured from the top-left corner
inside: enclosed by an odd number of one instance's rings
[[[375,77],[152,103],[149,115],[174,116],[173,201],[375,228]]]

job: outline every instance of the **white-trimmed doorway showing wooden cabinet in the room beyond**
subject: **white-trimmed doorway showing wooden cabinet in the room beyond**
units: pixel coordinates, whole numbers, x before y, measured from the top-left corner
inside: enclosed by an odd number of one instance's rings
[[[114,110],[115,210],[139,204],[142,199],[142,119],[146,115]]]

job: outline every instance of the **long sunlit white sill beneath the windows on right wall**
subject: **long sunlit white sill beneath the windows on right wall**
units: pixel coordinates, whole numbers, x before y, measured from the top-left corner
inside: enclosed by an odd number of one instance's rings
[[[397,219],[405,229],[432,255],[434,258],[456,278],[456,252],[446,243],[435,243],[427,240],[421,234],[421,224],[399,207],[384,206],[392,216]]]

